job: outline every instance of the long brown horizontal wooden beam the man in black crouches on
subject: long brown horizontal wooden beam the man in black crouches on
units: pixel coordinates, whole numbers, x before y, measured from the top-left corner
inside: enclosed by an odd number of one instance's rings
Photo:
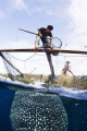
[[[0,52],[45,52],[42,48],[22,48],[22,49],[0,49]],[[66,49],[46,49],[47,52],[62,52],[62,53],[83,53],[87,55],[84,50],[66,50]]]

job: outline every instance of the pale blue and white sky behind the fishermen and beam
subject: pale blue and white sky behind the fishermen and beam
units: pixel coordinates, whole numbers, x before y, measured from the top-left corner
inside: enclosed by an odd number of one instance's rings
[[[37,33],[38,27],[53,25],[52,34],[63,41],[62,49],[87,50],[86,0],[2,0],[0,1],[0,48],[29,48],[36,36],[18,28]],[[67,46],[65,47],[65,44]],[[15,55],[21,59],[32,56]],[[75,55],[76,56],[76,55]],[[65,60],[71,61],[74,74],[87,74],[86,57],[52,57],[55,73],[60,74]],[[36,63],[35,61],[39,61]],[[36,57],[28,63],[28,72],[50,74],[46,57]],[[44,69],[44,70],[42,70]],[[1,71],[5,72],[1,61]]]

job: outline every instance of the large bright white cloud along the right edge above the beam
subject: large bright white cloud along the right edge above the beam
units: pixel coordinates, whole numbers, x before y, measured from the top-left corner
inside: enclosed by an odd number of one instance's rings
[[[71,39],[73,38],[72,41],[78,45],[78,49],[79,46],[82,49],[85,49],[85,45],[87,45],[87,1],[71,0],[67,14],[69,28],[72,31],[67,37],[71,37]]]

